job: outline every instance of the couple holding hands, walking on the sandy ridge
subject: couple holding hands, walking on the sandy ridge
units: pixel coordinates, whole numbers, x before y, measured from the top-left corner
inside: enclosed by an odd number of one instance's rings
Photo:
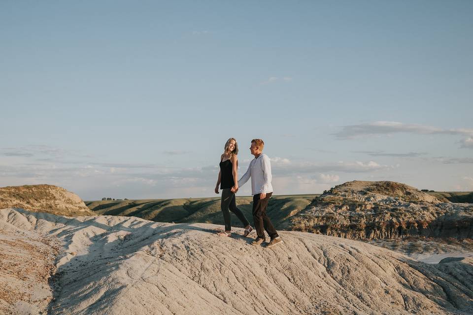
[[[248,236],[253,228],[245,215],[236,207],[235,193],[238,188],[243,186],[251,177],[251,194],[253,195],[253,222],[256,228],[256,239],[251,242],[252,245],[258,246],[266,242],[265,230],[270,236],[270,242],[266,247],[272,247],[282,242],[281,237],[277,234],[276,229],[271,223],[270,218],[266,215],[266,208],[272,195],[271,186],[271,164],[270,158],[263,154],[265,143],[261,139],[251,140],[250,152],[255,157],[251,160],[246,173],[238,181],[238,144],[235,138],[228,139],[225,144],[225,150],[220,157],[220,171],[218,173],[217,185],[215,193],[219,193],[222,189],[221,209],[223,219],[225,221],[225,231],[218,233],[220,236],[230,236],[232,226],[230,222],[230,212],[232,211],[245,227],[243,237]]]

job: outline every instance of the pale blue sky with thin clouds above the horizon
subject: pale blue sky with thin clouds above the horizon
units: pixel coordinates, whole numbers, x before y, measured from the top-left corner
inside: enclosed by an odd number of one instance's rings
[[[472,1],[2,1],[0,186],[212,196],[236,137],[240,175],[265,140],[275,194],[473,190],[472,16]]]

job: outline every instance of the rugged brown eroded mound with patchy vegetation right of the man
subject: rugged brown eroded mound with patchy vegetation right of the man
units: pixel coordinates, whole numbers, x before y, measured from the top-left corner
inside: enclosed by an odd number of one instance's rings
[[[290,220],[294,230],[346,238],[473,237],[473,204],[442,202],[396,182],[336,186]]]

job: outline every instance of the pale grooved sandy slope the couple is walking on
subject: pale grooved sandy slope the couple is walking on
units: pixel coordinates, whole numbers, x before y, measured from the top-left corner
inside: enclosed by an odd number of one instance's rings
[[[215,227],[0,210],[3,231],[63,242],[49,314],[473,313],[472,258],[429,265],[303,232],[266,249]]]

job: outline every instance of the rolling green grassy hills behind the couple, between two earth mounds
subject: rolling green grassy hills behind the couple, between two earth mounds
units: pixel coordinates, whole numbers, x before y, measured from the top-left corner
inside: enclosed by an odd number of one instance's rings
[[[319,195],[286,195],[273,196],[270,199],[267,213],[277,229],[287,226],[285,219],[292,217],[307,207]],[[251,196],[237,196],[236,205],[252,222]],[[224,224],[220,211],[220,197],[185,198],[185,199],[144,199],[122,201],[86,201],[90,210],[101,215],[138,217],[156,222],[175,223],[213,223]],[[232,225],[239,227],[241,223],[232,214]]]

